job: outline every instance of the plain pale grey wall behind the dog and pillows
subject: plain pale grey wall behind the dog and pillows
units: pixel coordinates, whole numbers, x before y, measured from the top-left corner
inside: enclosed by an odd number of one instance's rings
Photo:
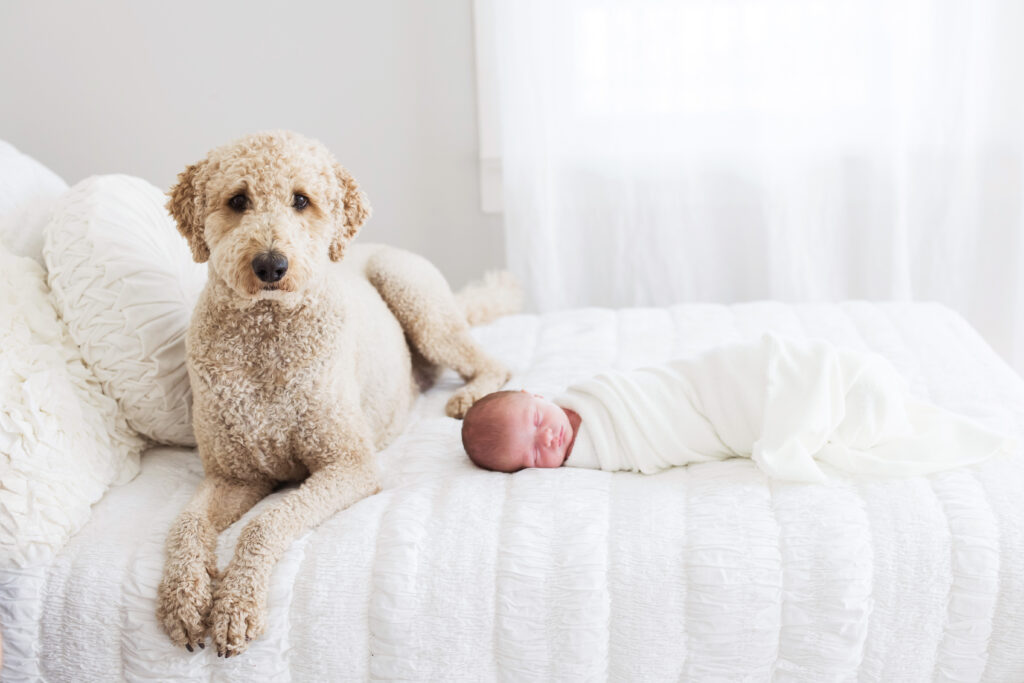
[[[0,2],[0,138],[74,183],[164,189],[208,150],[291,128],[374,206],[361,241],[459,287],[504,264],[480,211],[472,0]]]

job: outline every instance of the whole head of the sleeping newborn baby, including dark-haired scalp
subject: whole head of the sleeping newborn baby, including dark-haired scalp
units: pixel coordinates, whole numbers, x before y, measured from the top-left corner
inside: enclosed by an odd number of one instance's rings
[[[477,466],[497,472],[561,467],[574,431],[565,411],[525,391],[496,391],[473,403],[462,444]]]

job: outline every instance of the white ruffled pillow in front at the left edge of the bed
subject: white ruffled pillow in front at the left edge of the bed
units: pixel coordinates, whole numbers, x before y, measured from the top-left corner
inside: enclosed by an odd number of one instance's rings
[[[0,245],[0,568],[47,562],[143,442],[82,361],[46,273]]]

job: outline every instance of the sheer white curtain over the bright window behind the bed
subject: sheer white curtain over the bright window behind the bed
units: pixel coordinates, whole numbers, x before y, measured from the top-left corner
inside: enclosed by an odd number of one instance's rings
[[[538,310],[934,300],[1024,369],[1020,0],[484,1]]]

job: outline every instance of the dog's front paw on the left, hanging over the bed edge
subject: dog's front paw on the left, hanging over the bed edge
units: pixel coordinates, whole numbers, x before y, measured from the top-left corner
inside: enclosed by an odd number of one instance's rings
[[[215,571],[200,562],[168,562],[157,590],[157,621],[171,642],[189,652],[206,646]]]

